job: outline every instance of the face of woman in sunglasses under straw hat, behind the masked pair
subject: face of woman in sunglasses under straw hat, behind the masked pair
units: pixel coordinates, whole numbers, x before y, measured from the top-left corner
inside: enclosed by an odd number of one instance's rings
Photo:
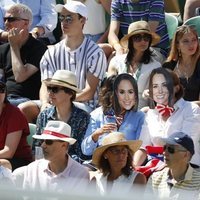
[[[150,38],[151,38],[151,35],[146,34],[146,33],[132,36],[133,48],[136,51],[144,52],[149,47]]]

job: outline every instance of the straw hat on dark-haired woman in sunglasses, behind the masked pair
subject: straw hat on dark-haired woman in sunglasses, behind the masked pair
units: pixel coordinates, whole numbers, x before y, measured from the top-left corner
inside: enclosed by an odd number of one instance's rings
[[[128,27],[128,34],[125,35],[121,40],[120,44],[123,47],[128,47],[128,39],[136,34],[147,33],[152,36],[151,46],[157,44],[160,41],[160,36],[157,33],[151,32],[149,24],[146,21],[133,22]]]

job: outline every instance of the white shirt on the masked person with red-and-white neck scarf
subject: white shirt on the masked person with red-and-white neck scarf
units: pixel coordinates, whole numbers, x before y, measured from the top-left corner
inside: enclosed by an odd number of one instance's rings
[[[166,122],[162,120],[156,109],[150,109],[146,113],[140,134],[140,140],[143,141],[142,147],[162,146],[160,138],[166,138],[174,132],[181,131],[193,139],[195,154],[191,162],[200,165],[200,108],[181,98],[175,103],[174,109],[175,111]]]

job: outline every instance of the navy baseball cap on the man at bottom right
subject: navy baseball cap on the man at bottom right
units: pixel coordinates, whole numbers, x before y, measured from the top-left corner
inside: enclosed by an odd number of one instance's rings
[[[187,149],[192,155],[194,154],[194,143],[190,136],[183,132],[175,132],[168,138],[163,138],[166,144],[181,145]]]

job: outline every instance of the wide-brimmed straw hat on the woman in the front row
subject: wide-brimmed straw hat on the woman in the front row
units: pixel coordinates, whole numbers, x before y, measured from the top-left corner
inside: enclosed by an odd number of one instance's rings
[[[133,154],[140,148],[142,145],[141,140],[126,140],[124,133],[121,132],[112,132],[106,135],[103,138],[102,146],[96,148],[92,156],[92,163],[95,165],[99,164],[102,154],[106,149],[112,146],[126,145],[128,146]]]

